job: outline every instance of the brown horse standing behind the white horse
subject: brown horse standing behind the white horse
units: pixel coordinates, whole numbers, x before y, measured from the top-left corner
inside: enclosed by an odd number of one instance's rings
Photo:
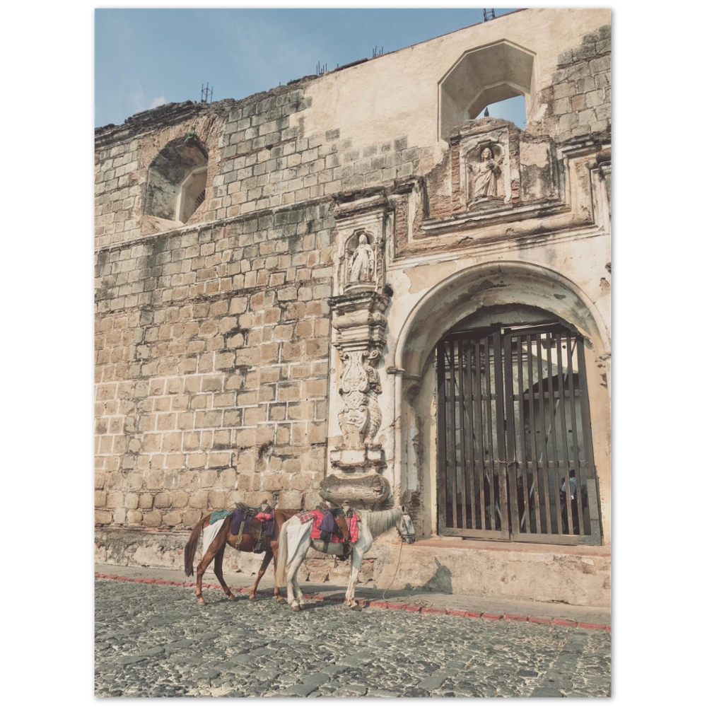
[[[300,511],[286,508],[274,511],[275,532],[273,537],[265,539],[265,556],[260,565],[260,569],[258,570],[255,582],[250,588],[251,600],[255,600],[255,592],[271,560],[274,560],[274,570],[277,570],[277,551],[279,547],[280,527],[286,520],[292,518],[292,516],[296,513],[300,513]],[[197,525],[194,526],[194,530],[192,530],[192,534],[189,537],[189,541],[184,549],[184,571],[187,577],[191,577],[194,574],[194,556],[197,554],[199,536],[201,535],[202,530],[204,530],[204,527],[209,525],[210,522],[211,513],[209,513],[209,515],[205,515],[204,518],[199,520]],[[255,523],[256,521],[253,520],[253,522]],[[262,532],[265,532],[264,528],[262,529]],[[223,580],[223,551],[226,550],[226,545],[228,544],[241,552],[252,552],[255,550],[255,544],[257,542],[257,537],[246,533],[241,534],[240,543],[238,542],[238,539],[238,535],[234,535],[230,532],[230,516],[228,518],[224,518],[223,521],[221,521],[221,529],[218,531],[218,534],[214,537],[213,541],[211,541],[209,548],[204,549],[201,562],[199,562],[199,565],[197,566],[197,600],[199,600],[199,604],[204,604],[204,597],[201,596],[201,578],[204,577],[206,568],[209,567],[211,560],[214,559],[216,559],[216,563],[214,563],[214,573],[216,574],[216,578],[218,578],[219,583],[221,583],[223,591],[226,592],[228,600],[232,602],[235,599],[233,592],[231,592],[228,585]],[[275,585],[275,597],[279,602],[285,601],[280,595],[280,588],[277,585]]]

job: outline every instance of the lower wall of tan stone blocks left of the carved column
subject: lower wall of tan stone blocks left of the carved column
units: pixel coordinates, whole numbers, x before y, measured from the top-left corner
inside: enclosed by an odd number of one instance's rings
[[[331,228],[313,204],[100,252],[97,522],[190,527],[272,491],[316,503]]]

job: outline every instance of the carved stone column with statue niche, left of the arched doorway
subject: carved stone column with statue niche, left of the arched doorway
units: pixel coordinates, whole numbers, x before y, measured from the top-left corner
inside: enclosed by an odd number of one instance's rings
[[[390,296],[385,289],[385,228],[389,207],[382,190],[340,197],[337,220],[337,295],[329,300],[336,349],[337,395],[329,402],[329,474],[320,496],[341,505],[380,506],[390,496],[382,475],[385,452],[377,440],[384,395],[378,366],[385,347]],[[333,390],[332,390],[333,392]],[[340,435],[337,434],[340,432]]]

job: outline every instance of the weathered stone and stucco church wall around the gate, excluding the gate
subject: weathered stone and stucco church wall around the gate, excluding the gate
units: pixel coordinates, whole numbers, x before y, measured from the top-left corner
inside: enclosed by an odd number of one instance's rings
[[[460,76],[500,56],[503,90],[526,95],[525,130],[464,114],[496,88],[464,95]],[[465,317],[515,305],[588,342],[610,544],[610,57],[609,8],[527,8],[243,100],[98,129],[100,557],[134,556],[106,549],[125,529],[180,531],[274,493],[312,507],[320,486],[334,498],[348,487],[332,479],[362,474],[380,481],[373,501],[409,504],[434,537],[431,354]],[[204,199],[182,223],[194,170],[206,170]],[[436,552],[420,554],[430,576]],[[577,602],[606,600],[605,579]]]

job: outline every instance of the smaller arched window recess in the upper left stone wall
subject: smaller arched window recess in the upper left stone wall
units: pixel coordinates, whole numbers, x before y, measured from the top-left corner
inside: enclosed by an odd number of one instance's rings
[[[198,137],[166,145],[148,171],[145,213],[187,223],[206,196],[209,152]]]

